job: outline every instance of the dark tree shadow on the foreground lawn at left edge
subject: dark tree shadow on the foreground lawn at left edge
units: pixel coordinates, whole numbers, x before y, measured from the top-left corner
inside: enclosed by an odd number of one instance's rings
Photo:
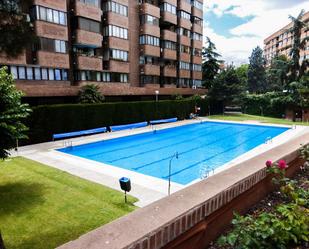
[[[27,212],[43,200],[42,184],[17,182],[1,185],[0,183],[0,217],[7,214]]]

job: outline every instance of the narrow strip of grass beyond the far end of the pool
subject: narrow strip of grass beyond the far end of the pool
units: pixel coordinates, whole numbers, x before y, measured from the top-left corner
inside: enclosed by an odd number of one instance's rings
[[[248,114],[230,114],[230,115],[212,115],[210,119],[231,120],[231,121],[248,121],[255,120],[261,123],[284,124],[284,125],[309,125],[308,122],[292,122],[286,119],[262,117]]]

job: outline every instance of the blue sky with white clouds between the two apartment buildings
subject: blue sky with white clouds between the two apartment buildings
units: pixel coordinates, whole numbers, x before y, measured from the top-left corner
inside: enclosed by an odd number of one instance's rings
[[[226,63],[248,63],[253,48],[263,48],[264,39],[302,9],[309,11],[309,0],[204,0],[204,37]]]

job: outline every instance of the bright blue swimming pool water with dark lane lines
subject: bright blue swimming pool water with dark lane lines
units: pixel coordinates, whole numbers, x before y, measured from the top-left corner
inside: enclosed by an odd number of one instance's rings
[[[188,184],[199,179],[205,169],[218,168],[286,130],[288,128],[204,122],[59,151],[165,180],[169,161],[177,151],[179,158],[173,159],[171,180]]]

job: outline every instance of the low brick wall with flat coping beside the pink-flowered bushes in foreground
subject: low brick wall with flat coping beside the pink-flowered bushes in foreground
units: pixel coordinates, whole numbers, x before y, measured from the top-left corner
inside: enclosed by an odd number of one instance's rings
[[[284,159],[293,175],[309,133],[99,227],[59,249],[199,249],[273,190],[265,161]]]

